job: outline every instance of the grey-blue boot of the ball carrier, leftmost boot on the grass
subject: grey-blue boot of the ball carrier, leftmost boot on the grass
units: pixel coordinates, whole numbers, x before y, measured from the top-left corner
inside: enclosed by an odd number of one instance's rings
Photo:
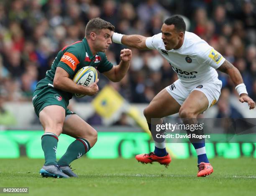
[[[69,176],[61,171],[58,165],[43,166],[39,173],[43,177],[69,178]]]

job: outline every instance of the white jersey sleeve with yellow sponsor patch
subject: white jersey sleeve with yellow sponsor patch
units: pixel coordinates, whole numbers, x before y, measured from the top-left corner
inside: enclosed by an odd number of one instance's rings
[[[218,69],[225,61],[225,58],[205,41],[197,45],[197,60],[201,64],[206,64]]]

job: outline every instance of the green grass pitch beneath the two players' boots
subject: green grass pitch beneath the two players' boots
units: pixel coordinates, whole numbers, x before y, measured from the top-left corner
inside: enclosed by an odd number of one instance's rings
[[[255,195],[256,160],[211,159],[214,173],[197,178],[196,159],[174,159],[166,169],[135,159],[80,158],[79,178],[42,178],[42,159],[0,159],[0,187],[29,187],[31,195]]]

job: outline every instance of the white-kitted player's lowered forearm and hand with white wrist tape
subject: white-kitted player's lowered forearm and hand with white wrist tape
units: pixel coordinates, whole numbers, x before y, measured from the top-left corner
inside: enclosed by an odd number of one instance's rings
[[[248,106],[251,109],[255,108],[254,101],[248,96],[248,93],[246,91],[246,86],[243,83],[243,78],[239,72],[239,70],[232,65],[228,60],[225,60],[222,65],[218,68],[221,72],[227,73],[233,83],[236,85],[236,90],[239,94],[239,101],[241,103],[247,102]]]

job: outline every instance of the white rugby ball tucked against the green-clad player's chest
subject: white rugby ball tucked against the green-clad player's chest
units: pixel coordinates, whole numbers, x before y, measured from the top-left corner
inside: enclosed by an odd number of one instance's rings
[[[86,66],[78,70],[78,72],[74,75],[73,81],[79,85],[89,86],[97,80],[98,74],[97,70],[92,66]],[[76,97],[84,97],[85,95],[81,95],[78,93],[74,94]]]

